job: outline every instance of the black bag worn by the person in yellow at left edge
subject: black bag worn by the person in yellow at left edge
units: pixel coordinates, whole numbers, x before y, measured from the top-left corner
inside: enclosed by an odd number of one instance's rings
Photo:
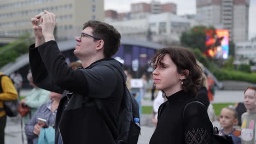
[[[6,76],[6,75],[0,75],[0,93],[3,93],[3,89],[1,86],[1,79],[3,76]],[[18,115],[18,107],[19,107],[18,99],[4,100],[3,103],[4,103],[4,106],[3,108],[0,108],[0,111],[4,110],[8,117],[15,117]]]

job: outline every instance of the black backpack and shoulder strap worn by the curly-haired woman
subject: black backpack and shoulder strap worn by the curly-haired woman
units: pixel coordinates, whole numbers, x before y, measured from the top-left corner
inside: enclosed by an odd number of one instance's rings
[[[187,106],[189,104],[192,103],[199,103],[201,105],[203,105],[202,103],[200,103],[199,101],[191,101],[190,103],[186,104],[184,109],[183,109],[183,117],[184,117],[184,112],[187,108]],[[203,105],[204,107],[205,105]],[[223,144],[234,144],[232,137],[230,135],[219,135],[219,130],[217,127],[213,128],[212,131],[212,144],[217,144],[217,143],[223,143]]]

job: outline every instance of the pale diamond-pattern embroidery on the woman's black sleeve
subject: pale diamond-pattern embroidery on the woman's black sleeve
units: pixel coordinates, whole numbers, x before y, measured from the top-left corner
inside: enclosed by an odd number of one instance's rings
[[[185,142],[189,144],[210,143],[210,133],[204,128],[193,128],[185,133]]]

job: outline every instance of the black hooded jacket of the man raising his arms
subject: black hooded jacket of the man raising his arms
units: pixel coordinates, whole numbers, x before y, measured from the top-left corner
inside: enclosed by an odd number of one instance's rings
[[[118,112],[123,96],[123,78],[114,70],[101,65],[111,63],[122,69],[113,58],[104,58],[83,69],[69,68],[57,47],[48,41],[36,48],[30,46],[30,65],[34,83],[62,93],[55,121],[55,143],[114,143],[113,129],[118,129]],[[123,73],[124,77],[125,74]],[[101,99],[111,123],[104,119],[94,99]]]

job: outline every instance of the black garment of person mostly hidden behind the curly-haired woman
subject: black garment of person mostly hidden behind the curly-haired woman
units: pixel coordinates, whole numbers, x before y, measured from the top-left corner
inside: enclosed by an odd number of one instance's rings
[[[208,98],[208,91],[207,91],[206,87],[204,87],[204,86],[200,87],[196,99],[197,99],[197,101],[200,101],[203,105],[205,105],[205,108],[207,111],[208,106],[210,105],[210,100]]]

